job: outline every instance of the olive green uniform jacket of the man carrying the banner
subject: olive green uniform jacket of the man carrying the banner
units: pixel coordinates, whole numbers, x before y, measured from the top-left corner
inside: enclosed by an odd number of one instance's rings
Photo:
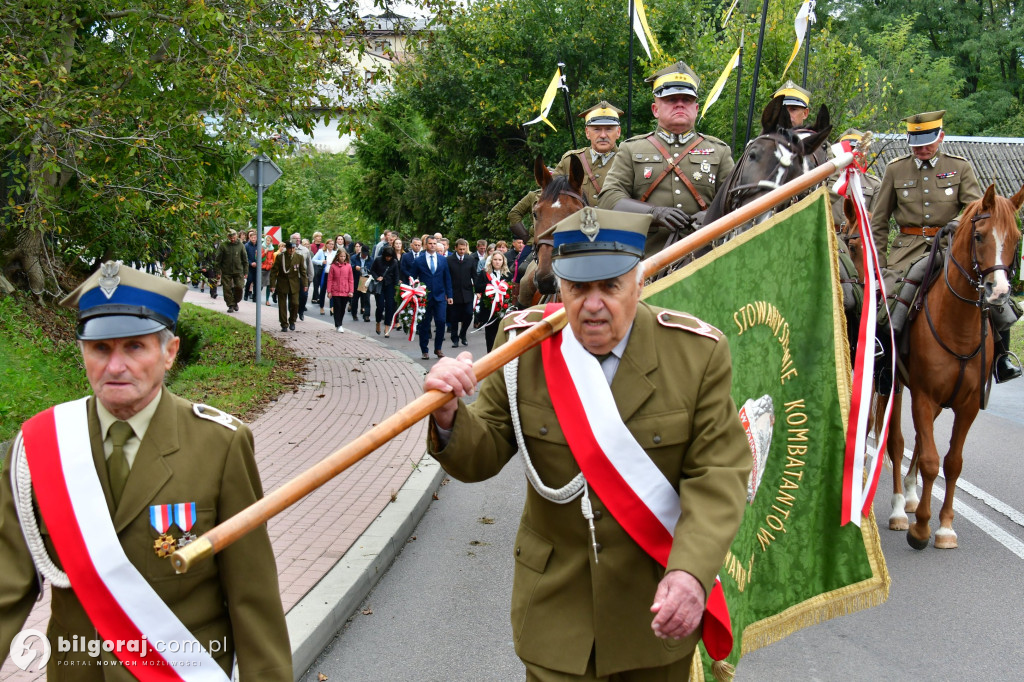
[[[726,339],[662,326],[659,311],[640,303],[611,392],[630,431],[678,484],[682,515],[668,568],[693,574],[710,594],[743,514],[751,452],[729,392]],[[532,309],[534,319],[542,314]],[[503,332],[512,317],[505,318]],[[500,333],[499,343],[505,339]],[[540,347],[519,358],[518,389],[527,451],[545,484],[560,487],[580,468],[555,418]],[[496,475],[517,452],[504,374],[487,377],[472,404],[459,404],[446,446],[438,449],[433,428],[430,434],[430,454],[453,477],[479,481]],[[626,534],[593,488],[589,495],[599,563],[580,504],[554,504],[527,484],[513,550],[516,652],[538,666],[580,675],[593,649],[599,677],[690,654],[699,628],[679,641],[659,639],[650,628],[665,569]]]

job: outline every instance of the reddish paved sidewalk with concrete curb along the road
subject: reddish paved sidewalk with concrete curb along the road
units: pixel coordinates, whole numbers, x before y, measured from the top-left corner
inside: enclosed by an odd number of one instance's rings
[[[223,312],[222,298],[189,289],[185,301]],[[256,305],[232,313],[255,326]],[[310,306],[310,310],[313,306]],[[225,313],[226,314],[226,313]],[[318,315],[317,315],[318,316]],[[351,329],[312,319],[283,333],[278,308],[262,307],[264,334],[310,360],[305,381],[250,424],[263,487],[270,492],[353,440],[422,393],[424,370]],[[421,422],[269,522],[296,677],[312,664],[400,551],[443,473],[424,455]],[[44,631],[49,589],[27,628]],[[6,660],[5,680],[44,679]]]

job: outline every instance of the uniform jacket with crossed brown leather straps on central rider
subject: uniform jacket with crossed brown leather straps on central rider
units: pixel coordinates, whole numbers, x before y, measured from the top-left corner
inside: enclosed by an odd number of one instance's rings
[[[653,133],[637,135],[623,142],[601,186],[598,208],[612,210],[622,199],[639,200],[668,167],[671,159],[666,159],[665,155],[650,142],[648,138],[652,135],[657,136],[658,142],[671,155],[681,154],[693,139],[690,133],[673,135],[658,128]],[[686,159],[679,162],[679,168],[693,184],[693,188],[703,199],[705,204],[710,206],[718,194],[718,188],[735,166],[735,162],[732,160],[732,152],[728,144],[711,135],[700,136],[703,140],[686,155]],[[647,203],[679,208],[687,215],[702,210],[675,172],[665,176],[647,199]],[[650,255],[660,251],[669,235],[670,230],[667,227],[652,225],[644,253]]]

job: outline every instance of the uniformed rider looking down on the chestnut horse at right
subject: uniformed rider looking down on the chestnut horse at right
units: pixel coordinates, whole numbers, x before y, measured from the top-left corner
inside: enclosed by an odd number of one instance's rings
[[[972,202],[981,199],[981,185],[974,168],[964,157],[939,150],[945,133],[945,111],[909,116],[906,122],[907,144],[912,154],[900,157],[886,167],[882,186],[874,199],[871,232],[880,264],[887,269],[886,290],[906,274],[918,259],[932,247],[935,235],[947,223],[954,223]],[[889,218],[899,227],[888,257]],[[995,379],[1009,381],[1021,376],[1010,360],[1009,333],[1001,331],[996,341]]]

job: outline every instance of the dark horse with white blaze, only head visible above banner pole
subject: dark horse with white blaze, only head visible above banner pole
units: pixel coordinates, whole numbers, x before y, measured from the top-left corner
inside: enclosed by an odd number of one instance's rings
[[[790,113],[782,104],[782,96],[772,99],[761,114],[761,134],[751,140],[735,168],[723,181],[708,207],[703,224],[750,204],[817,166],[815,154],[828,139],[831,128],[828,109],[823,104],[811,128],[797,130],[793,128]],[[754,224],[771,217],[773,212],[758,216]],[[738,227],[733,235],[750,226]]]

